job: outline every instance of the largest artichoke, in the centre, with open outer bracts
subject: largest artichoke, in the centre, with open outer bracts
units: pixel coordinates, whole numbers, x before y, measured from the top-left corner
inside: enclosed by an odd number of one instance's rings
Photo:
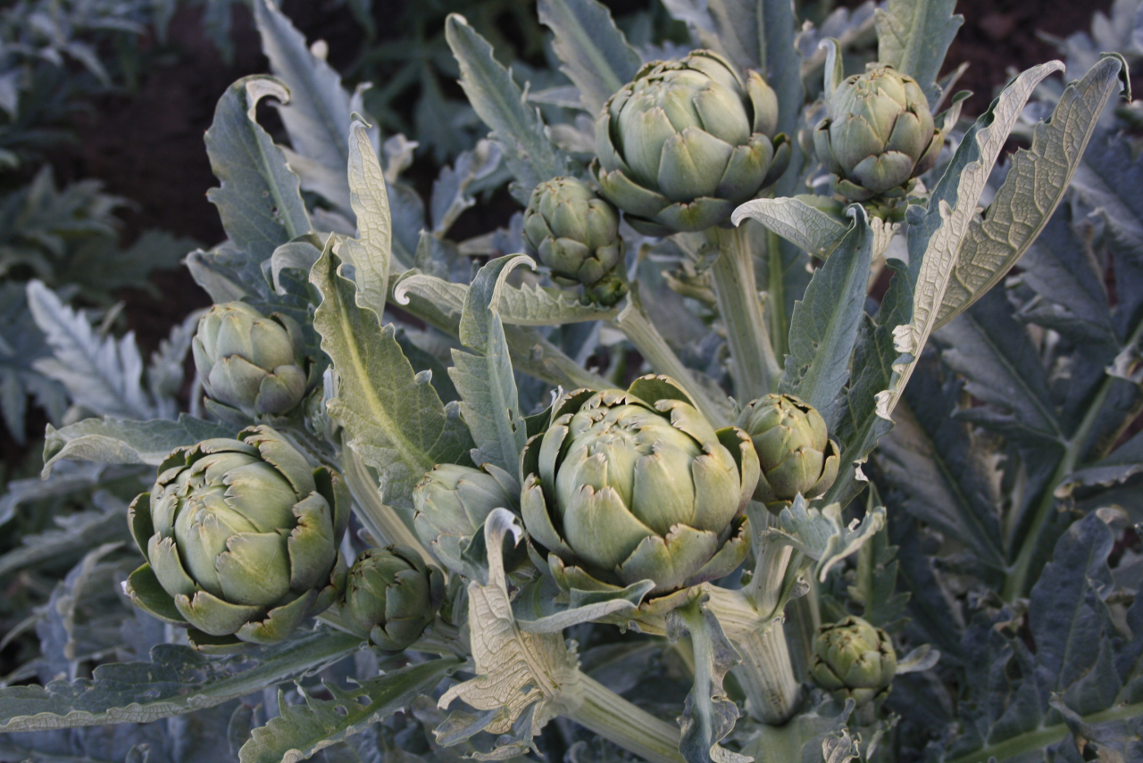
[[[750,437],[716,432],[665,376],[563,395],[522,464],[523,522],[561,588],[649,579],[660,596],[729,575],[746,553]]]

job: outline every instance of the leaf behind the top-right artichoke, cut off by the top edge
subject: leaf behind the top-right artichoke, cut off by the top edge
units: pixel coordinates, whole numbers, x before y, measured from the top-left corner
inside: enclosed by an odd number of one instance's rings
[[[889,0],[877,11],[877,58],[921,86],[929,106],[940,97],[936,77],[965,17],[956,0]]]

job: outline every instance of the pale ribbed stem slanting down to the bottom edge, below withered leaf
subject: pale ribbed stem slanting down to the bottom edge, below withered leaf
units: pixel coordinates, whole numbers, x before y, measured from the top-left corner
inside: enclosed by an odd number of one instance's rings
[[[636,707],[582,672],[560,688],[559,701],[561,715],[650,763],[684,763],[678,725]]]

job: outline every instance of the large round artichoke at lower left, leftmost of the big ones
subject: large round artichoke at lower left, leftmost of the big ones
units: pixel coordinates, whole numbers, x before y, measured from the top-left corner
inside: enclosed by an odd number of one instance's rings
[[[342,479],[266,426],[176,449],[127,516],[147,560],[131,601],[202,649],[281,641],[345,581]]]

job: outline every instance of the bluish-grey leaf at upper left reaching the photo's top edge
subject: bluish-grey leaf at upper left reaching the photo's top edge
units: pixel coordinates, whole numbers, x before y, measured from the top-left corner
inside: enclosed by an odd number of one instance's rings
[[[255,0],[254,21],[270,71],[289,89],[281,114],[293,151],[290,168],[302,187],[320,193],[339,212],[350,216],[350,187],[345,182],[350,131],[350,96],[337,72],[310,50],[305,38],[271,0]]]

